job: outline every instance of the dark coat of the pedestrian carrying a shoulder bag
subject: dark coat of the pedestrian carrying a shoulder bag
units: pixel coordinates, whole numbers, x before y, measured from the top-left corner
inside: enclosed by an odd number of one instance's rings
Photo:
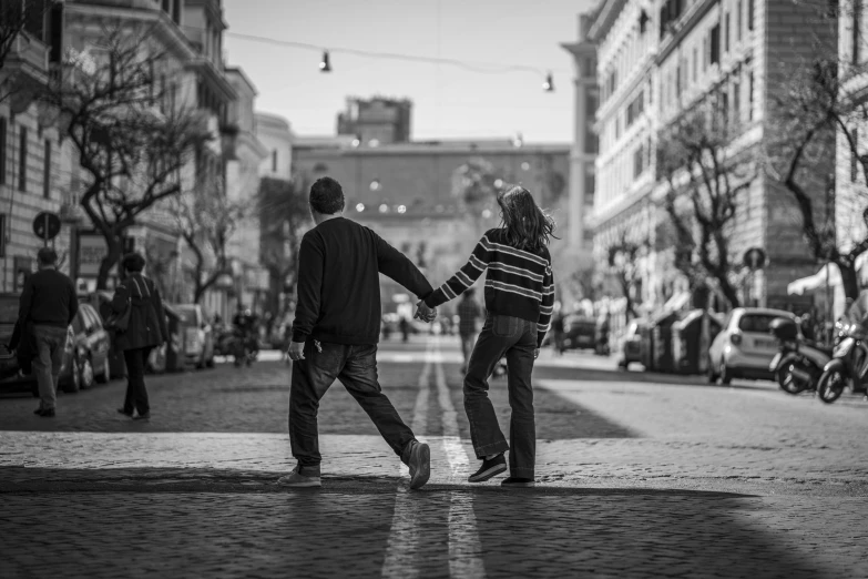
[[[114,291],[112,311],[121,314],[130,299],[132,312],[126,332],[115,336],[121,351],[159,346],[169,339],[163,299],[156,284],[142,274],[133,274]]]

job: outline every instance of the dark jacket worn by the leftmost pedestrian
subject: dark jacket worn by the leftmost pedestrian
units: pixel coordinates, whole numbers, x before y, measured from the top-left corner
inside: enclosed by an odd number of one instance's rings
[[[21,292],[18,318],[38,326],[67,327],[79,311],[75,284],[57,270],[40,270]]]

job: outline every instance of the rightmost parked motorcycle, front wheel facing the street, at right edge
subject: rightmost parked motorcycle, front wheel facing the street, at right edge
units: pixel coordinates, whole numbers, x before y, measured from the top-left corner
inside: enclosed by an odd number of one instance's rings
[[[840,328],[841,338],[817,384],[817,394],[824,404],[840,398],[847,386],[854,392],[862,390],[868,376],[868,334],[862,324],[841,321],[836,328]]]

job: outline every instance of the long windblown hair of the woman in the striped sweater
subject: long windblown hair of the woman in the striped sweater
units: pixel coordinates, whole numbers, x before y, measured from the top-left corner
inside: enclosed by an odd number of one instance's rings
[[[540,209],[530,191],[513,185],[498,193],[501,225],[507,240],[515,248],[540,253],[554,236],[554,220]]]

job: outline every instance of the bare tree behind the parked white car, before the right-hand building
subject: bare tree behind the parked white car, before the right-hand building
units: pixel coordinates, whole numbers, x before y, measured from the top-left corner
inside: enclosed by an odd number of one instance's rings
[[[727,112],[713,96],[670,124],[658,135],[657,171],[668,184],[664,206],[675,230],[675,267],[693,287],[711,277],[737,307],[731,236],[756,163],[749,151],[734,149],[739,126]]]

